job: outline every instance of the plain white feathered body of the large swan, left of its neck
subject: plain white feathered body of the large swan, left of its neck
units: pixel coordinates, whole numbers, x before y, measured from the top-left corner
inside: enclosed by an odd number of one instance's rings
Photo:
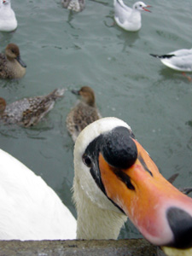
[[[0,149],[0,239],[74,239],[76,220],[58,195]]]

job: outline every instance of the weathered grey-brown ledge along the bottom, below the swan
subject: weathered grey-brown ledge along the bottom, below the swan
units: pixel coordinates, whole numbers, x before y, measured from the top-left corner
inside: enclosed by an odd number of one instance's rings
[[[0,241],[0,256],[164,256],[160,248],[144,239]]]

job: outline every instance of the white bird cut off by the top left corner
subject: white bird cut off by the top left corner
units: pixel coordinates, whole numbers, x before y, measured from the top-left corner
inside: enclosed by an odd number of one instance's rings
[[[1,0],[0,4],[0,31],[12,32],[17,28],[15,12],[11,8],[10,0]]]

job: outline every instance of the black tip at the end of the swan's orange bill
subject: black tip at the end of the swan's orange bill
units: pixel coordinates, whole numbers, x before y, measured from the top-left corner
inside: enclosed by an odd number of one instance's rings
[[[166,212],[168,223],[172,229],[174,241],[170,246],[177,248],[192,247],[192,217],[188,212],[171,207]]]

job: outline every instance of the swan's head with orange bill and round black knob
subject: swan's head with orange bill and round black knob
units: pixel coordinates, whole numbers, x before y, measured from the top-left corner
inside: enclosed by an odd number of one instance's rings
[[[92,203],[123,212],[154,245],[192,247],[192,199],[160,175],[124,121],[88,125],[75,143],[74,169]]]

